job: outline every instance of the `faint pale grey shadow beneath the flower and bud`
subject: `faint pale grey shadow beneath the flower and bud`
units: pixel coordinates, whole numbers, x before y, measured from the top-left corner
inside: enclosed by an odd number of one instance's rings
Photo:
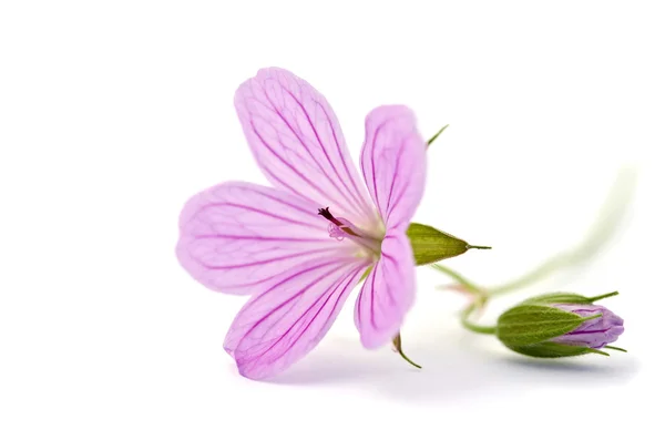
[[[622,383],[638,370],[635,358],[624,354],[611,359],[600,356],[552,360],[524,358],[494,340],[478,338],[461,329],[448,334],[447,338],[431,338],[430,335],[420,340],[430,342],[410,344],[406,350],[423,366],[421,370],[388,349],[362,351],[357,340],[338,338],[321,345],[272,382],[366,391],[407,401],[459,401],[488,392],[519,395],[533,391],[539,385],[592,388]]]

